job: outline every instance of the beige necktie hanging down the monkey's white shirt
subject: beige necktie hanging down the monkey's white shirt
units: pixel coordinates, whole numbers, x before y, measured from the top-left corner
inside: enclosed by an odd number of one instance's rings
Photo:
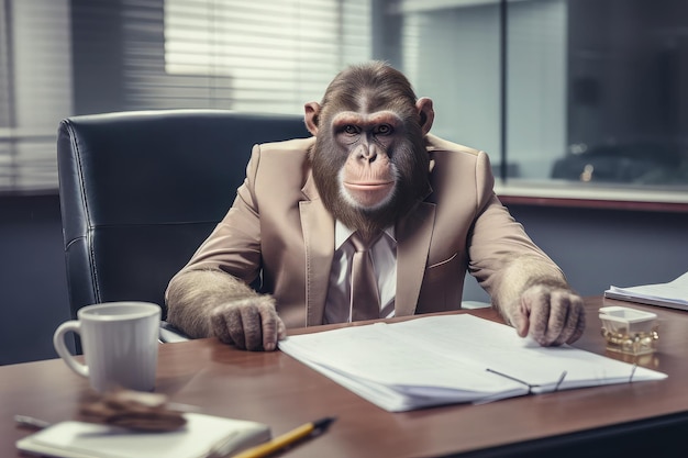
[[[379,232],[369,239],[364,239],[355,232],[351,236],[356,249],[352,258],[352,321],[380,317],[380,294],[369,248],[381,235]]]

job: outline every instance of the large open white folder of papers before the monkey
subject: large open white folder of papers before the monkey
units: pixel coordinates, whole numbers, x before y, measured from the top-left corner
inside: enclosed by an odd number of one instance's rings
[[[289,336],[279,348],[389,412],[667,377],[568,345],[541,347],[467,314]]]

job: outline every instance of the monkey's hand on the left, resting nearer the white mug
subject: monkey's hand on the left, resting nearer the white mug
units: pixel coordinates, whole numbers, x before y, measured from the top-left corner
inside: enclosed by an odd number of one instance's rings
[[[213,334],[223,343],[253,351],[273,351],[287,335],[270,295],[243,298],[218,305],[210,314]]]

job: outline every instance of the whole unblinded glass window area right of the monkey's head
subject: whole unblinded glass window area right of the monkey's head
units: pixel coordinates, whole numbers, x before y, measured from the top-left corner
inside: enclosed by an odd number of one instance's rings
[[[687,2],[399,4],[401,62],[437,102],[433,130],[488,150],[496,175],[686,192]]]

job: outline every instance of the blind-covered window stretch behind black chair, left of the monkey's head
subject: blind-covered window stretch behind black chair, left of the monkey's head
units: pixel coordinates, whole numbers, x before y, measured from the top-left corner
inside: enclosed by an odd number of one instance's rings
[[[74,114],[301,113],[371,56],[371,0],[0,0],[0,192],[55,192]]]

